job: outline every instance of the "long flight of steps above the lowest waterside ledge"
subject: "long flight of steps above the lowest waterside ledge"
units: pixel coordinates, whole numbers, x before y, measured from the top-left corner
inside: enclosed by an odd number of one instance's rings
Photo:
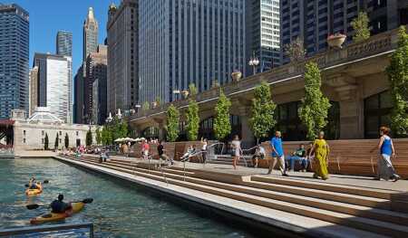
[[[213,195],[237,199],[254,205],[262,205],[287,213],[305,215],[329,223],[342,224],[370,232],[393,235],[395,237],[408,236],[408,227],[403,226],[403,224],[408,224],[408,214],[389,211],[389,205],[384,205],[387,202],[384,198],[347,195],[345,193],[330,191],[328,186],[323,186],[325,190],[317,190],[316,187],[305,188],[275,185],[272,184],[273,182],[271,182],[271,180],[258,177],[243,185],[231,185],[193,177],[194,172],[191,170],[186,172],[186,176],[183,176],[184,172],[180,171],[180,168],[175,167],[162,168],[161,171],[149,171],[146,168],[134,167],[130,162],[124,161],[110,161],[99,164],[98,159],[94,157],[83,157],[81,161],[137,176],[166,181],[170,184],[189,187]],[[283,181],[281,183],[285,184],[288,182]],[[296,185],[298,185],[298,183]],[[293,191],[288,192],[288,189],[296,189],[297,194]],[[298,191],[302,191],[302,189],[303,192],[299,195]],[[339,190],[339,187],[333,189]],[[307,190],[309,191],[307,192]],[[315,195],[316,193],[319,195]],[[379,194],[378,196],[386,196],[383,195],[385,192]],[[376,195],[376,193],[374,193],[374,195]],[[345,199],[346,202],[335,201],[336,199]],[[378,209],[376,207],[384,209]]]

